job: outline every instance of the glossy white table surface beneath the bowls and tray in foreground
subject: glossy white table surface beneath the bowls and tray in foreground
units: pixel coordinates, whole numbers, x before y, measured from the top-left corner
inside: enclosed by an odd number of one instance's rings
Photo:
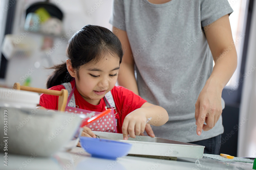
[[[8,166],[4,166],[3,153],[0,153],[1,165],[0,169],[20,169],[20,170],[82,170],[82,169],[97,169],[97,170],[156,170],[156,169],[172,169],[172,170],[198,170],[198,169],[252,169],[253,164],[231,162],[226,166],[225,162],[212,159],[191,159],[178,158],[175,160],[162,160],[153,158],[141,158],[134,156],[124,156],[117,160],[108,160],[93,158],[89,153],[82,148],[76,147],[68,152],[58,152],[52,157],[35,156],[31,160],[31,156],[8,154]],[[33,158],[33,156],[32,156]]]

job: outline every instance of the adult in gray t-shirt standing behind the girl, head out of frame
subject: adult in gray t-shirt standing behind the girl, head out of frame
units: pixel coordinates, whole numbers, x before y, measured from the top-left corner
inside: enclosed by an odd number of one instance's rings
[[[218,154],[221,93],[237,67],[232,12],[227,0],[114,0],[110,23],[126,49],[118,83],[167,110],[157,137]]]

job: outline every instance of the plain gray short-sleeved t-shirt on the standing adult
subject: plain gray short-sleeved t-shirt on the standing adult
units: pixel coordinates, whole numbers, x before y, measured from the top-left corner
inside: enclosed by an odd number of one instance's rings
[[[223,133],[220,117],[196,134],[195,103],[213,68],[203,27],[232,12],[227,0],[114,0],[110,23],[128,35],[139,94],[169,114],[166,124],[152,127],[156,137],[193,142]]]

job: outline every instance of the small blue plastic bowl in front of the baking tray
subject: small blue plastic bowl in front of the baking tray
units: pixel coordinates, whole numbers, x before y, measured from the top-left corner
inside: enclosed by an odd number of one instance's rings
[[[132,147],[130,143],[84,136],[80,136],[80,143],[82,148],[92,157],[114,160],[126,156]]]

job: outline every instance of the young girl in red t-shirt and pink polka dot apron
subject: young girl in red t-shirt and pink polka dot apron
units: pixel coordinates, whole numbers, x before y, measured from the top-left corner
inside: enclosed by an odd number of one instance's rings
[[[69,40],[67,56],[65,63],[52,67],[56,70],[47,81],[49,89],[68,90],[66,111],[97,113],[112,108],[112,113],[84,127],[82,136],[96,137],[92,132],[95,130],[123,133],[127,140],[128,135],[135,138],[144,132],[149,117],[152,119],[148,123],[154,126],[168,121],[164,108],[115,86],[123,50],[110,30],[86,25]],[[57,110],[58,96],[41,94],[40,106]]]

